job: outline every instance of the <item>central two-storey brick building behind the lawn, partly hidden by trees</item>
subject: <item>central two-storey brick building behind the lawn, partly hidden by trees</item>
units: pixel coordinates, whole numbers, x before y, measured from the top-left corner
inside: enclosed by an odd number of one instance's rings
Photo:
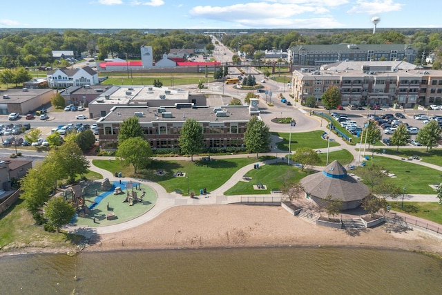
[[[97,121],[99,145],[102,149],[116,149],[120,124],[135,115],[152,149],[179,147],[180,130],[189,118],[202,124],[206,147],[242,146],[246,124],[251,115],[258,114],[258,99],[251,99],[250,106],[210,107],[192,103],[158,107],[117,105]]]

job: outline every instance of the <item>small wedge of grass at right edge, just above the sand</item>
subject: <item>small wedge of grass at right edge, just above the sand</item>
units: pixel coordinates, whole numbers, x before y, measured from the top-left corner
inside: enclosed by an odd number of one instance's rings
[[[442,225],[442,206],[435,202],[390,202],[392,210],[431,220]]]

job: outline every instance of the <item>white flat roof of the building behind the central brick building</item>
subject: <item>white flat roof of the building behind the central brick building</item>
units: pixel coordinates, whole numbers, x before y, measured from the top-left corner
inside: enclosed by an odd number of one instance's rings
[[[103,87],[104,88],[104,87]],[[107,91],[99,95],[90,104],[139,104],[140,102],[147,102],[152,100],[166,101],[182,101],[188,102],[189,91],[167,87],[153,87],[153,86],[115,86],[115,91]],[[95,90],[96,91],[96,90]]]

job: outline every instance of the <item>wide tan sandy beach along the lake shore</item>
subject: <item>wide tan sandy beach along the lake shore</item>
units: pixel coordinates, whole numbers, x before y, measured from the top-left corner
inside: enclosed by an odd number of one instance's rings
[[[202,247],[375,247],[442,256],[442,240],[385,223],[345,231],[314,225],[280,206],[242,204],[180,206],[140,227],[95,236],[84,251]]]

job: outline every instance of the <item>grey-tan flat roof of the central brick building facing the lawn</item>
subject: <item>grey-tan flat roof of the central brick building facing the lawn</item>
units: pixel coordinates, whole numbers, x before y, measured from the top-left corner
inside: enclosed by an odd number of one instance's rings
[[[171,113],[171,117],[163,117],[158,108],[148,106],[114,106],[111,112],[98,120],[98,123],[121,123],[128,117],[133,117],[135,113],[143,113],[138,117],[140,124],[151,122],[185,122],[192,118],[198,122],[248,122],[250,120],[249,106],[219,106],[220,111],[225,112],[224,116],[214,113],[215,108],[211,106],[175,107],[162,106],[164,111]]]

